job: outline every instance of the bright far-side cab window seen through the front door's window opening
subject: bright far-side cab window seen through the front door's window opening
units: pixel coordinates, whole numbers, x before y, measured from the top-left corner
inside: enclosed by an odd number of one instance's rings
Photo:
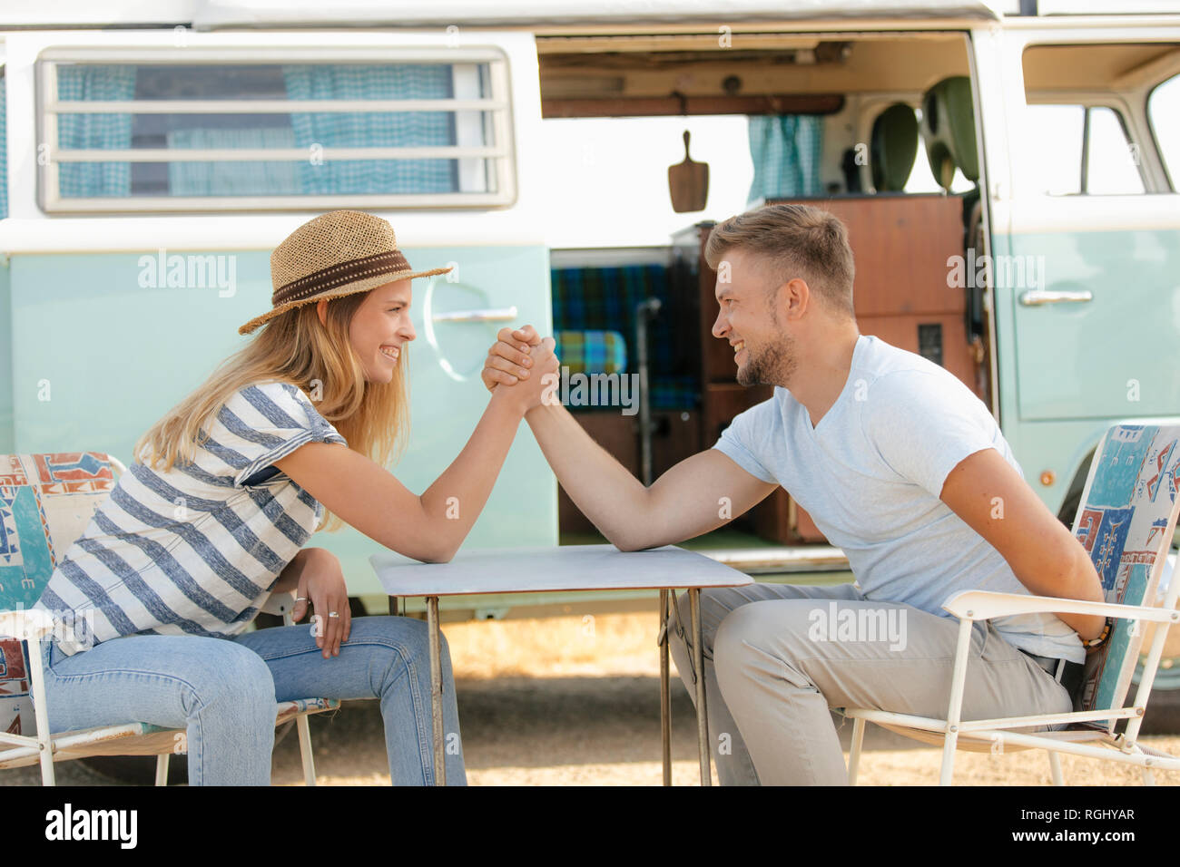
[[[1034,177],[1050,196],[1143,192],[1139,153],[1120,116],[1104,105],[1029,105]]]

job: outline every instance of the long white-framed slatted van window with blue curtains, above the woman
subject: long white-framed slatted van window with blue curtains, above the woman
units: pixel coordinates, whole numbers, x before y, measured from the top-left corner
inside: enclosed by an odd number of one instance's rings
[[[438,206],[512,201],[504,57],[282,63],[192,50],[46,52],[47,211]],[[444,60],[445,58],[445,60]],[[46,94],[53,94],[47,99]],[[301,106],[307,103],[307,107]],[[250,197],[247,203],[243,197]]]

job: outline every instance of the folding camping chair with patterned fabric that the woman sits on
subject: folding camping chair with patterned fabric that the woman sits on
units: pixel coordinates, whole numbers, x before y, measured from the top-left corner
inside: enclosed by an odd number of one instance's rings
[[[40,762],[46,786],[55,782],[54,762],[97,755],[157,756],[156,784],[164,786],[169,757],[183,751],[183,729],[142,722],[50,734],[40,639],[60,624],[32,606],[58,560],[110,495],[112,467],[126,472],[116,458],[100,452],[0,455],[0,769]],[[276,593],[262,610],[282,615],[290,625],[294,596]],[[315,786],[315,764],[307,717],[339,707],[337,699],[328,698],[276,707],[276,725],[296,721],[308,786]],[[30,723],[33,734],[22,735]]]

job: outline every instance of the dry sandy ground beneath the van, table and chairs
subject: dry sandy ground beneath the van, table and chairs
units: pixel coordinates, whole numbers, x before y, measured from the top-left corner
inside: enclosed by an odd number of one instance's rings
[[[545,619],[445,623],[472,786],[658,786],[660,657],[654,611]],[[346,702],[312,717],[321,786],[388,784],[381,715],[375,702]],[[840,729],[847,749],[852,724]],[[1180,736],[1143,743],[1180,754]],[[696,717],[673,674],[673,782],[699,784]],[[940,751],[870,725],[859,784],[924,786],[938,781]],[[294,733],[275,748],[273,781],[301,786]],[[1139,784],[1138,770],[1062,756],[1070,784]],[[1156,773],[1180,783],[1180,771]],[[59,783],[104,784],[78,762],[58,769]],[[38,784],[35,768],[0,771],[0,786]],[[1043,753],[992,756],[959,751],[955,782],[1048,786]],[[716,776],[714,774],[714,783]]]

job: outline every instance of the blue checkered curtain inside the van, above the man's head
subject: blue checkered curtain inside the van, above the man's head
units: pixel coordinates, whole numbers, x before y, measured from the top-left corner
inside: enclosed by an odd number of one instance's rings
[[[754,183],[749,199],[819,196],[824,120],[814,114],[750,116],[749,155]]]

